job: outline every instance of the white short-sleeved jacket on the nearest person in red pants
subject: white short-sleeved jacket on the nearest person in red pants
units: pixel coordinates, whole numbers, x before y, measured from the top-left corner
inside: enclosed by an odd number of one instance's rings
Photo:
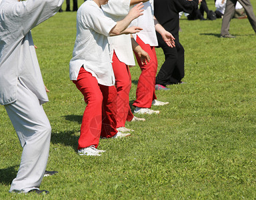
[[[104,15],[95,1],[87,0],[77,11],[77,37],[69,63],[69,77],[77,80],[83,66],[99,84],[115,85],[107,37],[117,23]]]

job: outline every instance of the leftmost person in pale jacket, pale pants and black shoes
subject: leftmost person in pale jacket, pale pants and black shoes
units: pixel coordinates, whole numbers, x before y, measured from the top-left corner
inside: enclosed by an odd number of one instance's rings
[[[51,125],[42,104],[48,101],[31,29],[59,11],[63,0],[0,2],[0,104],[15,128],[23,152],[9,192],[39,190],[47,165]]]

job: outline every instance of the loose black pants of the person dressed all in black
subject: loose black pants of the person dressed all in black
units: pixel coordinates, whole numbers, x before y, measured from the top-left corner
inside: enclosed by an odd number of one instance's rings
[[[165,43],[159,46],[165,53],[165,62],[163,63],[155,84],[163,86],[177,84],[184,77],[184,48],[181,44],[176,47],[168,47]]]

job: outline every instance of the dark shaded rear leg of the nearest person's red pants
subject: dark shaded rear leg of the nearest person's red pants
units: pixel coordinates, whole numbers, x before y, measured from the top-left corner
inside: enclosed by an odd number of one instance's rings
[[[101,137],[110,138],[117,134],[117,89],[115,86],[99,85],[102,95]]]

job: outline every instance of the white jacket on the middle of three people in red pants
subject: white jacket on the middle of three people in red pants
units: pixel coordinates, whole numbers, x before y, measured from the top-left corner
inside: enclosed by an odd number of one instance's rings
[[[117,22],[123,20],[125,16],[128,15],[130,11],[130,3],[130,0],[109,0],[107,4],[102,5],[101,7],[107,17],[110,17]],[[113,51],[115,51],[119,61],[126,65],[135,65],[130,34],[108,37],[108,40],[111,57],[113,57]]]

